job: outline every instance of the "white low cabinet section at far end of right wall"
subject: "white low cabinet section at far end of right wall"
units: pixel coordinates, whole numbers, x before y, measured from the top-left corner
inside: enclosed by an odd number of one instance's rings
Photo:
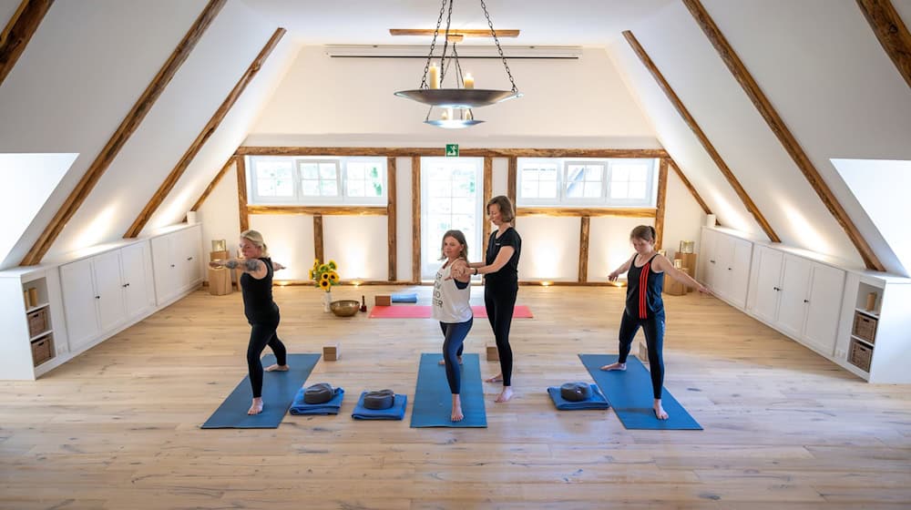
[[[752,242],[703,229],[699,278],[715,295],[743,308],[750,280]]]

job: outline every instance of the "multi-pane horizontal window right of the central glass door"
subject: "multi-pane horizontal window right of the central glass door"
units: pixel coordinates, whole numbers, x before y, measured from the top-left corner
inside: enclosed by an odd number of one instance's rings
[[[655,207],[657,160],[519,158],[520,206]]]

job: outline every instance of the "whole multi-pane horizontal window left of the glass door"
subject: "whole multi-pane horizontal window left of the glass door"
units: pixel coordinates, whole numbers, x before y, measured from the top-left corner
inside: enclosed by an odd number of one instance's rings
[[[251,203],[374,205],[386,202],[385,158],[250,158]]]

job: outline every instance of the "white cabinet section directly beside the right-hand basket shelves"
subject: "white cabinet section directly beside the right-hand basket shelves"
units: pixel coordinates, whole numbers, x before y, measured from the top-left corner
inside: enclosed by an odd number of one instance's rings
[[[755,244],[746,310],[825,356],[834,353],[845,271]]]

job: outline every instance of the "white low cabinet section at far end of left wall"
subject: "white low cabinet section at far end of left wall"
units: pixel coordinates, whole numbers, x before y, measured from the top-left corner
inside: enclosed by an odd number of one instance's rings
[[[200,224],[153,237],[151,244],[159,307],[175,301],[202,283]]]

